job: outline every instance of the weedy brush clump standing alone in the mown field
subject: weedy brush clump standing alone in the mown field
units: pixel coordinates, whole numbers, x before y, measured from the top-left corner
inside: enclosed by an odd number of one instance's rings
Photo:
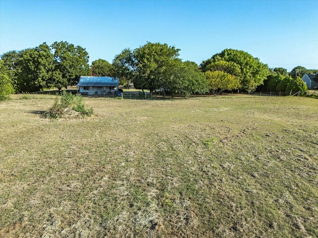
[[[87,109],[81,96],[62,91],[61,96],[56,96],[52,107],[43,116],[49,119],[61,119],[92,115],[93,108]]]

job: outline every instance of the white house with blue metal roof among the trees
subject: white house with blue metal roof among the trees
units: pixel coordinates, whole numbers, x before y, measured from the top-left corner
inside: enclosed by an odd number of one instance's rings
[[[76,85],[81,95],[109,95],[117,93],[118,78],[106,76],[80,76]]]

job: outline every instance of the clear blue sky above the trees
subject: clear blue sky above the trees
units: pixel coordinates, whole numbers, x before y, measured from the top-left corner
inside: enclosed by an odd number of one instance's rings
[[[318,69],[318,0],[0,0],[0,55],[67,41],[89,62],[147,42],[200,64],[224,49]]]

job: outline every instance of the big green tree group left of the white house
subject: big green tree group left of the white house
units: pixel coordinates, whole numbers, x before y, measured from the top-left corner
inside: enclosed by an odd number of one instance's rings
[[[53,52],[53,53],[52,53]],[[88,53],[68,42],[43,43],[35,48],[10,51],[1,56],[10,68],[9,77],[16,92],[34,92],[57,87],[60,91],[89,75]]]

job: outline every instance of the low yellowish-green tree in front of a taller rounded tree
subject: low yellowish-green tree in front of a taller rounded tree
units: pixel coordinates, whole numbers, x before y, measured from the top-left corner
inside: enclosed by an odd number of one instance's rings
[[[239,78],[224,71],[206,71],[206,78],[209,82],[209,89],[220,93],[224,90],[234,90],[240,88]]]

